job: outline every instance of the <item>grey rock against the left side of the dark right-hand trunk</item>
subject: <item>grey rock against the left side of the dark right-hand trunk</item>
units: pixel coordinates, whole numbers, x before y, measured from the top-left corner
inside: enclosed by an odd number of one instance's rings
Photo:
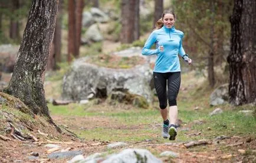
[[[210,105],[216,106],[228,102],[228,84],[221,85],[212,92],[210,96]]]

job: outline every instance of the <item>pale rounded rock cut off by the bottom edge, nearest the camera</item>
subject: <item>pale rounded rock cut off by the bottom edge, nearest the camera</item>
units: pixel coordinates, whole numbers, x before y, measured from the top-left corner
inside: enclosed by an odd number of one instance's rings
[[[146,149],[124,149],[119,154],[111,155],[101,163],[136,163],[136,162],[147,162],[147,163],[160,163],[160,159],[156,158]]]

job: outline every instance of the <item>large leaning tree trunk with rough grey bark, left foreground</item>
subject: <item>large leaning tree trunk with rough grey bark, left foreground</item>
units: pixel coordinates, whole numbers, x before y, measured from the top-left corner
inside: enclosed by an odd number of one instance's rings
[[[11,81],[4,91],[21,99],[34,114],[52,121],[44,94],[44,73],[51,49],[58,0],[34,0]],[[56,126],[55,126],[56,127]],[[56,127],[58,131],[60,128]]]

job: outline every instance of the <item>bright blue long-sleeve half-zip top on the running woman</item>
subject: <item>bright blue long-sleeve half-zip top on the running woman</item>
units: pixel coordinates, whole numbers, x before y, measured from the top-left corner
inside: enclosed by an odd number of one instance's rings
[[[179,56],[185,55],[182,47],[183,32],[163,26],[153,31],[142,49],[142,55],[157,55],[154,72],[179,72],[180,63]],[[150,49],[156,44],[156,49]],[[160,51],[163,46],[163,52]]]

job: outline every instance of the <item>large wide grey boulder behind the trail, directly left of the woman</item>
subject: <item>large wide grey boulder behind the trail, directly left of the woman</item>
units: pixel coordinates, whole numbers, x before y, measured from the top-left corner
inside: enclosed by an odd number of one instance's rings
[[[149,87],[152,72],[149,64],[137,65],[130,69],[100,67],[80,58],[73,62],[70,71],[63,78],[64,100],[80,101],[94,97],[117,99],[122,101],[132,97],[136,103],[139,97],[152,102],[153,95]],[[128,100],[129,101],[129,100]]]

